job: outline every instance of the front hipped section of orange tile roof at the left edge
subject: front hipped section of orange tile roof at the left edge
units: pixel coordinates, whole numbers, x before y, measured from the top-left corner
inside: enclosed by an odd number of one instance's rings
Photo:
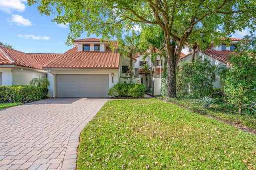
[[[0,46],[0,65],[17,65],[42,69],[42,65],[29,54]]]

